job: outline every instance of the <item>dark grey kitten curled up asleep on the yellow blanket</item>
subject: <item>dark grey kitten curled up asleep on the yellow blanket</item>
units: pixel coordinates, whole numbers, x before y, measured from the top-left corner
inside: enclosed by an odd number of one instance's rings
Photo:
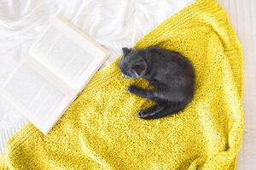
[[[122,48],[119,69],[123,76],[143,77],[154,89],[128,86],[131,94],[152,99],[155,105],[137,112],[143,119],[155,119],[182,111],[194,94],[194,69],[181,54],[157,47]]]

